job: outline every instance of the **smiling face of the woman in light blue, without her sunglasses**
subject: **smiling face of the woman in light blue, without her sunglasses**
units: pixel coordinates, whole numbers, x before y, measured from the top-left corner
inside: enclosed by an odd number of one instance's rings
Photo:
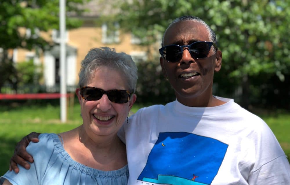
[[[108,67],[99,67],[85,86],[103,90],[129,90],[126,82],[126,78],[118,71]],[[81,105],[83,127],[90,138],[117,134],[136,100],[136,95],[133,94],[127,103],[114,103],[104,94],[99,100],[87,101],[81,98],[79,88],[77,88],[76,93]]]

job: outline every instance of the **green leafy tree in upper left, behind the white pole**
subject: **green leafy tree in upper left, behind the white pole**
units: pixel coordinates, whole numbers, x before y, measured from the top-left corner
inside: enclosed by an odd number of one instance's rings
[[[88,0],[66,0],[66,11],[79,14],[79,5]],[[59,29],[59,0],[11,0],[0,3],[0,89],[4,82],[17,83],[15,66],[9,57],[8,50],[14,48],[44,49],[51,43],[41,37],[39,32]],[[81,21],[75,18],[66,19],[67,29],[79,27]],[[28,32],[21,32],[30,30]]]

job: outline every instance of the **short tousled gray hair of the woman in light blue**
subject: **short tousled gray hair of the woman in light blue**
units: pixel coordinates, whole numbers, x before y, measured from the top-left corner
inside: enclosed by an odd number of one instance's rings
[[[130,55],[124,52],[116,53],[114,48],[92,48],[85,59],[81,61],[79,71],[79,87],[85,86],[94,72],[99,67],[108,67],[120,72],[126,78],[129,91],[135,92],[138,74],[137,66]]]

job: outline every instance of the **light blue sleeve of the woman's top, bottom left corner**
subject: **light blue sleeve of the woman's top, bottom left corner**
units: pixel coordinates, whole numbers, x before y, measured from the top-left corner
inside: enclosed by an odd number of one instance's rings
[[[50,165],[49,160],[54,151],[53,139],[49,136],[49,134],[40,134],[38,143],[30,142],[27,146],[26,151],[30,153],[34,159],[34,162],[30,163],[30,169],[27,170],[18,165],[19,173],[7,171],[2,177],[13,185],[40,184],[41,178]]]

